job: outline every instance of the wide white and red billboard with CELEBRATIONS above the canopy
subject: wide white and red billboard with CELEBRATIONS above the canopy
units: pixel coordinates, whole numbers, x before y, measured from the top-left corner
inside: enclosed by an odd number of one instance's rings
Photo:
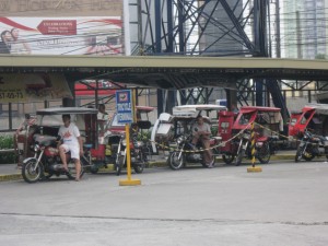
[[[122,21],[119,16],[0,16],[0,54],[124,55]]]

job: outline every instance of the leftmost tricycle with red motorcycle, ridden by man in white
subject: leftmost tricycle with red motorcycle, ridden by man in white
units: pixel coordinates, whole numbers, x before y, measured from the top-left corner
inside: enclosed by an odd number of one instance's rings
[[[44,108],[36,112],[38,122],[27,129],[19,140],[26,148],[23,153],[22,176],[26,183],[36,183],[40,179],[48,179],[51,176],[67,175],[70,179],[75,178],[75,165],[70,154],[67,154],[68,172],[63,169],[59,151],[57,149],[58,130],[62,126],[61,116],[71,115],[71,121],[75,124],[83,138],[86,148],[96,148],[96,114],[97,109],[83,107],[56,107]],[[24,139],[23,137],[26,137]],[[17,143],[17,145],[20,142]],[[94,145],[93,145],[94,144]],[[87,153],[87,151],[85,151]],[[92,159],[89,162],[85,153],[81,156],[81,173],[84,174],[87,166],[92,166]]]

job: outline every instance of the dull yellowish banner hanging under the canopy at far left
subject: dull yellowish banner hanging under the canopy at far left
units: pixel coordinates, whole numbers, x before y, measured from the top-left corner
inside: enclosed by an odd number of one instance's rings
[[[0,103],[28,103],[72,97],[61,74],[0,74]]]

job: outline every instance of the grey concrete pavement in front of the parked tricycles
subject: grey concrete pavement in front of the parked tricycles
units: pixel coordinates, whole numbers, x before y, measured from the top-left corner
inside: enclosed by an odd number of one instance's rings
[[[327,162],[247,166],[2,181],[0,245],[327,245]]]

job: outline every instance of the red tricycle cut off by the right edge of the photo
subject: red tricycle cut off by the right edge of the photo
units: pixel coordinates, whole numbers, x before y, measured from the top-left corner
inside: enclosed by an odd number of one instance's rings
[[[301,112],[293,112],[289,125],[289,136],[297,140],[295,162],[304,159],[328,157],[328,105],[309,104]]]

